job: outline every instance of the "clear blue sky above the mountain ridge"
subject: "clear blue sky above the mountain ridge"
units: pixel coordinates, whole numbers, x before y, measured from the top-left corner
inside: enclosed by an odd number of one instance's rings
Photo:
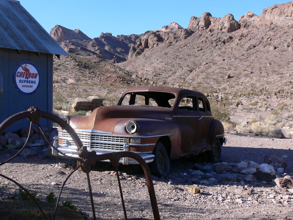
[[[238,21],[247,11],[260,15],[263,9],[288,1],[20,0],[20,3],[48,32],[59,24],[72,30],[80,29],[95,38],[101,32],[114,36],[141,34],[159,30],[171,22],[187,28],[191,16],[200,17],[204,12],[214,17],[231,13]]]

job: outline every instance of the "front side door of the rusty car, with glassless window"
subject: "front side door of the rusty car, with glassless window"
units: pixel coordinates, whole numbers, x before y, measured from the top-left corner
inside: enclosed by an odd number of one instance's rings
[[[200,150],[200,116],[194,95],[182,95],[175,108],[176,122],[180,128],[181,151],[183,154]]]

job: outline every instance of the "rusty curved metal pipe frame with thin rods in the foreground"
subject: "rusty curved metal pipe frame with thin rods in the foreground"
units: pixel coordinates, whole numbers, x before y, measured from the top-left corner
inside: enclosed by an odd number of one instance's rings
[[[35,108],[34,106],[32,106],[30,109],[28,109],[28,111],[22,111],[22,112],[16,113],[13,116],[10,116],[5,121],[3,121],[0,124],[0,136],[2,135],[2,133],[12,123],[14,123],[14,122],[16,122],[18,120],[24,119],[24,118],[28,118],[28,120],[31,121],[35,125],[39,123],[40,118],[46,118],[46,119],[49,119],[49,120],[52,120],[52,121],[58,123],[62,128],[64,128],[70,134],[71,138],[73,139],[74,143],[77,146],[77,153],[78,153],[79,157],[81,157],[81,163],[82,163],[81,164],[81,169],[84,172],[86,172],[87,177],[88,177],[88,181],[89,181],[89,175],[88,174],[91,171],[91,165],[95,165],[96,161],[110,160],[112,162],[112,165],[114,167],[116,167],[116,173],[117,173],[117,167],[119,165],[120,158],[130,157],[130,158],[133,158],[134,160],[137,160],[139,162],[139,164],[142,166],[142,169],[144,170],[144,174],[145,174],[145,177],[146,177],[146,180],[147,180],[147,187],[148,187],[148,190],[149,190],[149,196],[150,196],[150,200],[151,200],[152,211],[153,211],[153,214],[154,214],[154,220],[160,220],[160,214],[159,214],[158,204],[157,204],[157,200],[156,200],[156,194],[155,194],[155,190],[154,190],[154,185],[153,185],[153,182],[152,182],[151,172],[149,170],[149,167],[148,167],[147,163],[139,155],[137,155],[136,153],[133,153],[133,152],[126,152],[126,151],[121,151],[121,152],[116,152],[116,153],[107,153],[107,154],[102,154],[102,155],[96,155],[96,152],[94,152],[94,151],[88,152],[87,148],[82,145],[82,142],[80,141],[78,135],[75,133],[73,128],[71,128],[71,126],[69,126],[69,124],[67,122],[65,122],[64,120],[62,120],[61,118],[59,118],[58,116],[56,116],[54,114],[44,112],[44,111],[40,111],[39,109]],[[38,124],[38,126],[39,126],[39,124]],[[41,131],[42,131],[42,129],[41,129]],[[1,175],[1,176],[5,177],[4,175]],[[69,175],[67,177],[67,179],[70,176],[71,175]],[[117,177],[119,178],[119,176],[117,176]],[[12,179],[9,179],[9,180],[11,180],[12,182],[14,182],[17,185],[21,186],[16,181],[14,181]],[[63,185],[65,185],[66,180],[65,180]],[[118,183],[120,183],[119,179],[118,179]],[[88,186],[89,186],[90,195],[91,195],[90,182],[88,182]],[[119,187],[121,189],[121,186],[119,186]],[[24,189],[24,187],[22,187],[22,186],[21,186],[21,188]],[[120,191],[122,191],[122,190],[120,190]],[[60,191],[60,194],[61,194],[61,192],[62,192],[62,190]],[[58,199],[60,198],[60,194],[59,194]],[[123,195],[121,195],[121,196],[122,196],[122,200],[123,200]],[[92,203],[92,208],[93,208],[93,215],[95,217],[95,209],[94,209],[94,205],[93,205],[93,197],[92,197],[92,195],[91,195],[91,203]],[[37,203],[37,205],[38,205],[38,203]],[[38,205],[38,207],[39,207],[39,205]],[[40,208],[40,210],[42,211],[41,208]],[[56,216],[56,211],[57,210],[55,209],[54,218]],[[124,212],[126,212],[125,208],[124,208]],[[43,213],[43,211],[42,211],[42,213]],[[44,213],[43,213],[43,215],[45,216]],[[47,219],[46,216],[45,216],[45,219]],[[125,219],[127,219],[126,213],[125,213]]]

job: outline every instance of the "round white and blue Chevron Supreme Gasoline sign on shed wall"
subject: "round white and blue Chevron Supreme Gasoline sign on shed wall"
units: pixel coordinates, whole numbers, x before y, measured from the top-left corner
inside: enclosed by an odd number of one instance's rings
[[[33,94],[40,85],[40,72],[32,62],[24,61],[18,64],[13,78],[16,89],[23,95]]]

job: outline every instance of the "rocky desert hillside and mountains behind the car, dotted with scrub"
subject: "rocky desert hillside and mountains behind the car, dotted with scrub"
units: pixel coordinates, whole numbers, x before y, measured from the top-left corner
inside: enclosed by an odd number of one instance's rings
[[[206,12],[191,17],[188,28],[172,22],[140,35],[91,39],[59,25],[51,35],[71,55],[54,62],[58,105],[69,108],[74,98],[89,95],[115,104],[138,84],[186,87],[206,94],[215,114],[228,116],[220,118],[233,122],[226,131],[274,136],[278,128],[291,137],[293,1],[260,15],[247,12],[239,21]],[[256,122],[259,132],[251,128]]]

